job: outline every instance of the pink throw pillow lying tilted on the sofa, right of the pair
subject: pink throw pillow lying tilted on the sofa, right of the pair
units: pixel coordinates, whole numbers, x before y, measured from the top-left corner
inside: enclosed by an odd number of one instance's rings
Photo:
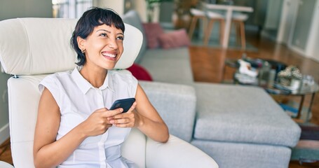
[[[186,29],[179,29],[170,31],[158,36],[158,41],[162,48],[178,48],[182,46],[188,46],[191,44],[189,36],[187,36]]]

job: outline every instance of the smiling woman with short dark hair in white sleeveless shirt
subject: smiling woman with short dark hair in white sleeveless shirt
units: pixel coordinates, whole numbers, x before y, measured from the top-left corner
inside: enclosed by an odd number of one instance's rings
[[[168,141],[168,127],[137,79],[109,71],[123,53],[124,29],[110,9],[90,8],[77,22],[71,44],[78,66],[47,76],[39,85],[36,167],[136,167],[121,157],[131,127],[155,141]],[[127,113],[107,109],[129,97],[136,101]]]

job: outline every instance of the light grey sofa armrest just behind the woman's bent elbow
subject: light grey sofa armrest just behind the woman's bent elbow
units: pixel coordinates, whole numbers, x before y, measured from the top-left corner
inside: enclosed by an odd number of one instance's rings
[[[140,85],[168,125],[170,134],[191,141],[196,116],[194,87],[147,81],[140,81]]]

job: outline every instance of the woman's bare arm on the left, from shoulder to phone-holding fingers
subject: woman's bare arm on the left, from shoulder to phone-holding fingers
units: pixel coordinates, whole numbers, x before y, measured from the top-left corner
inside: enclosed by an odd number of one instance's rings
[[[105,113],[107,112],[107,113]],[[120,109],[99,109],[64,137],[55,141],[60,127],[60,109],[50,91],[45,88],[40,98],[36,130],[34,133],[34,165],[55,167],[66,160],[86,137],[103,134],[111,124],[109,116],[121,113]]]

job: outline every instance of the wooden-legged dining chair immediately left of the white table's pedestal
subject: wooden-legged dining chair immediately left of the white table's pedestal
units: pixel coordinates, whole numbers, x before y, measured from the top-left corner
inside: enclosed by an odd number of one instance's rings
[[[222,45],[223,39],[224,39],[224,29],[225,29],[224,15],[208,10],[207,17],[208,17],[209,23],[208,23],[208,29],[205,32],[204,44],[208,45],[208,42],[210,41],[210,34],[212,33],[214,22],[219,22],[219,43],[220,45]]]

